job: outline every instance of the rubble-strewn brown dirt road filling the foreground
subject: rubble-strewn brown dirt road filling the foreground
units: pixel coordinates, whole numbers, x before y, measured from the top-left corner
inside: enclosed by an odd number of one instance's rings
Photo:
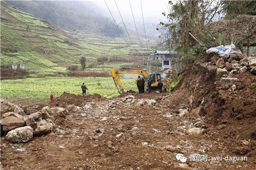
[[[213,137],[217,129],[190,134],[188,130],[194,127],[195,115],[181,115],[179,106],[163,104],[164,95],[134,94],[134,103],[127,104],[119,102],[123,98],[87,102],[80,111],[56,120],[57,126],[51,134],[34,137],[24,144],[11,144],[1,138],[3,170],[255,168],[255,150],[246,155],[247,161],[211,160],[213,156],[242,155],[233,152],[229,138]],[[141,99],[155,99],[156,103],[136,104]],[[23,148],[24,151],[17,151]],[[187,158],[186,163],[176,160],[178,153]],[[189,159],[192,154],[209,158],[206,162],[192,162]]]

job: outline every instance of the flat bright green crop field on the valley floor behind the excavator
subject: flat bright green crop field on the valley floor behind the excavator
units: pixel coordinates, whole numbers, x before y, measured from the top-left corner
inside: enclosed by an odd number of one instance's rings
[[[59,97],[63,92],[81,94],[81,84],[89,89],[89,94],[98,93],[105,98],[113,98],[119,93],[112,77],[43,77],[1,81],[1,97],[49,98],[50,92]],[[137,90],[135,79],[123,79],[125,90]]]

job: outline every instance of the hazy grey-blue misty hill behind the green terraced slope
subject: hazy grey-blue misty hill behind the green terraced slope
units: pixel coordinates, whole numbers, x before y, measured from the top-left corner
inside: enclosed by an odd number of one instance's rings
[[[64,30],[120,36],[112,20],[104,17],[97,5],[90,1],[11,0],[6,2]]]

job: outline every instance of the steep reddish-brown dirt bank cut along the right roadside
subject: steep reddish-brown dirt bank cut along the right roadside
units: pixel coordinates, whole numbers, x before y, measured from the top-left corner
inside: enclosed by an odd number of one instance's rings
[[[232,91],[232,84],[223,86],[221,78],[216,77],[218,58],[207,56],[207,61],[188,67],[164,103],[170,108],[187,105],[192,116],[204,118],[207,134],[239,145],[242,140],[252,140],[256,136],[256,76],[248,71],[229,74],[238,79]]]

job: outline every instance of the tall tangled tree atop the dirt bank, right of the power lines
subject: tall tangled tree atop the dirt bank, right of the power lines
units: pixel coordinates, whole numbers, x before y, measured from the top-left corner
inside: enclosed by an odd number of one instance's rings
[[[223,6],[224,1],[220,0],[179,0],[175,4],[169,1],[168,13],[162,13],[167,22],[160,22],[157,28],[164,50],[182,53],[193,60],[207,48],[209,42],[204,39],[210,35],[206,24],[221,16]]]

